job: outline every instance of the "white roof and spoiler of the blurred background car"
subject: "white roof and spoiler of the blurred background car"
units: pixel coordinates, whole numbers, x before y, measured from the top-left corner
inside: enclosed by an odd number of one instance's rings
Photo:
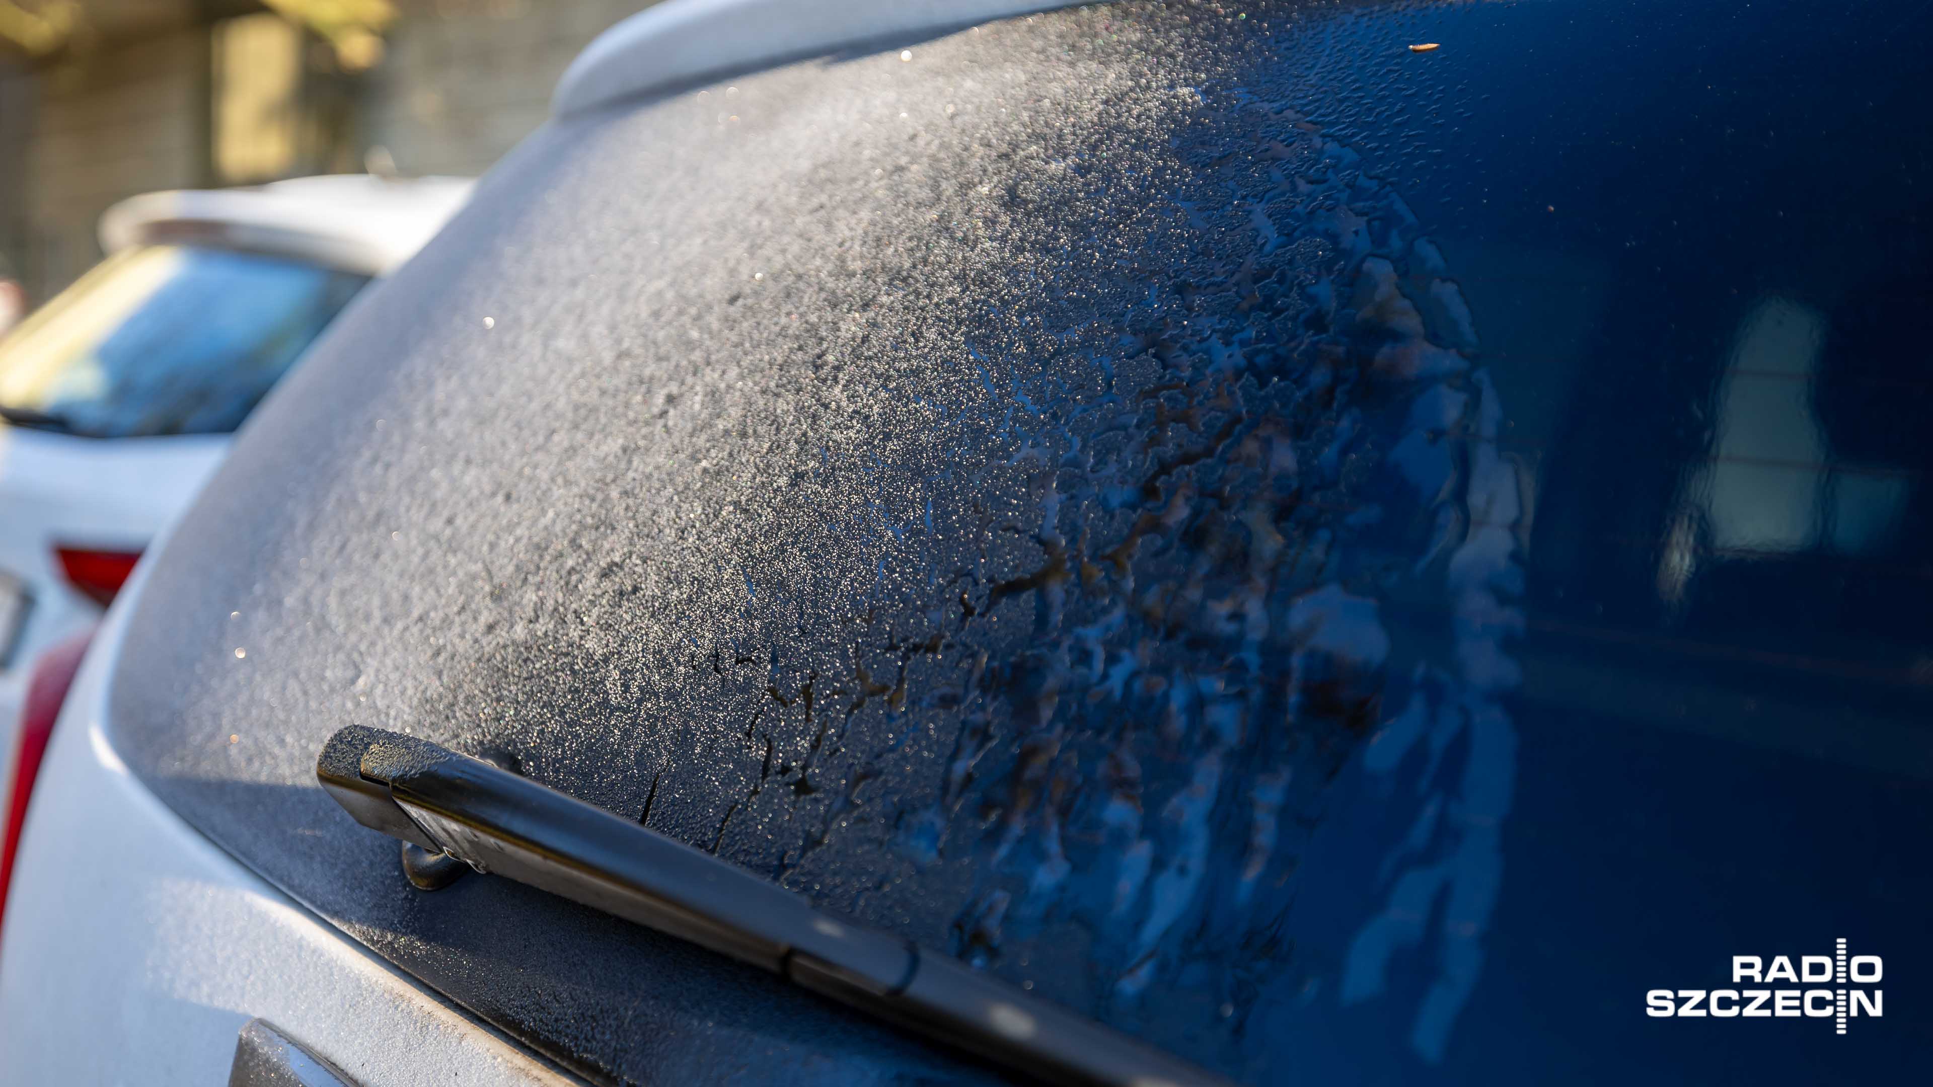
[[[197,242],[385,275],[470,199],[470,178],[336,174],[124,199],[101,217],[106,251]]]

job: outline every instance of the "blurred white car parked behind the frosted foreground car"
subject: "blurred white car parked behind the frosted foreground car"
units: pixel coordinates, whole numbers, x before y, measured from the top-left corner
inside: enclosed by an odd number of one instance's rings
[[[249,410],[468,193],[325,176],[126,199],[108,257],[0,338],[0,781],[37,656],[93,627]]]

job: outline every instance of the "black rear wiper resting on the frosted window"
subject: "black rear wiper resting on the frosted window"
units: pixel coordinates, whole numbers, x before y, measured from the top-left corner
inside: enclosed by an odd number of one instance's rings
[[[445,747],[352,725],[315,776],[356,822],[680,936],[1050,1083],[1226,1085],[1193,1064]]]

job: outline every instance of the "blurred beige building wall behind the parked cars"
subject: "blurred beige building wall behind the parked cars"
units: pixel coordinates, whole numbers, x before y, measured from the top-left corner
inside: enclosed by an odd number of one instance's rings
[[[479,174],[649,0],[0,0],[0,267],[33,302],[122,197],[317,172]]]

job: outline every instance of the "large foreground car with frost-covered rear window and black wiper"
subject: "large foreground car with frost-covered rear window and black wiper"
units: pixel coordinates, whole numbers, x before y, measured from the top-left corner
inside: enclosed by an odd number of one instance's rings
[[[572,66],[108,611],[0,1077],[1923,1068],[1916,8],[1034,8]]]

